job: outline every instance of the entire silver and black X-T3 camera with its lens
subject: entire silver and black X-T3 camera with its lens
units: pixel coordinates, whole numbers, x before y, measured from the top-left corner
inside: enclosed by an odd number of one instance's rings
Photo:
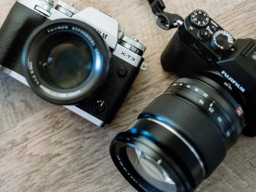
[[[109,124],[147,69],[146,47],[96,8],[53,6],[53,0],[14,4],[0,29],[0,71],[98,126]]]

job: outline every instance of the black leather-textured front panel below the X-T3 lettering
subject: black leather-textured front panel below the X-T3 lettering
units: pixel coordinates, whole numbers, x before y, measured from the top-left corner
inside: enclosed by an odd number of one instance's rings
[[[111,69],[106,85],[95,94],[94,98],[81,102],[77,105],[78,108],[88,112],[106,124],[110,124],[113,120],[114,116],[122,106],[130,88],[132,87],[134,80],[140,72],[140,68],[129,64],[113,54],[111,56],[110,63]],[[120,76],[120,69],[126,70],[126,75]],[[93,110],[94,104],[96,104],[98,100],[102,100],[107,104],[105,114],[96,114]]]

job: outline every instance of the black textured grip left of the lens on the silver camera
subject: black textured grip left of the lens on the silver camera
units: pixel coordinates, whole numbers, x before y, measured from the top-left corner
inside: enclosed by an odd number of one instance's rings
[[[46,20],[46,17],[16,2],[0,28],[0,64],[23,75],[24,44],[34,29]]]

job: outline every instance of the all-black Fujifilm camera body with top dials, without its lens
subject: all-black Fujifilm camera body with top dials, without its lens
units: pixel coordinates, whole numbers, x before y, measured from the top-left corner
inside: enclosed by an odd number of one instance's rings
[[[254,107],[256,106],[256,40],[235,40],[204,10],[195,10],[180,26],[161,56],[164,70],[178,76],[196,74],[202,70],[217,70],[229,80],[246,100],[248,136],[256,136]],[[215,77],[212,77],[215,80]],[[229,85],[226,84],[229,88]],[[251,133],[248,133],[248,132]]]

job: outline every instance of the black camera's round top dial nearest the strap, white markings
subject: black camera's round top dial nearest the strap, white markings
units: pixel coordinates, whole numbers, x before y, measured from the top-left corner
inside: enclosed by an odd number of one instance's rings
[[[203,10],[195,10],[190,15],[191,24],[198,28],[204,28],[204,27],[208,26],[209,20],[210,20],[210,18],[208,16],[208,14]]]

